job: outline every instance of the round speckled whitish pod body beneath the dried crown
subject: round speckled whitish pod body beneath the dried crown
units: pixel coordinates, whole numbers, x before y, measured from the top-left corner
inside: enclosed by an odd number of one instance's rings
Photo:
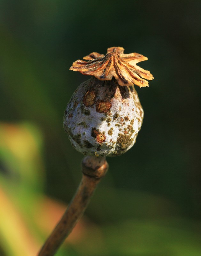
[[[121,155],[134,143],[143,109],[134,86],[92,77],[82,83],[67,105],[64,128],[73,147],[84,155]]]

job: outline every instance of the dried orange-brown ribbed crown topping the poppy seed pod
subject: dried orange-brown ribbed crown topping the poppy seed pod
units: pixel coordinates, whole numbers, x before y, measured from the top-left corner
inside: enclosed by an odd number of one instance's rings
[[[139,87],[149,86],[147,80],[152,80],[152,74],[140,68],[136,63],[147,60],[138,53],[124,54],[124,48],[111,47],[107,54],[92,52],[84,59],[73,62],[70,70],[79,71],[84,75],[93,75],[99,80],[112,80],[114,77],[121,86],[138,85]]]

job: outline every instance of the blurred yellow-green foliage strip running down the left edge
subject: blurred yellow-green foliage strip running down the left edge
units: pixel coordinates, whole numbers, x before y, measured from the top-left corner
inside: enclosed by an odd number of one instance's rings
[[[33,124],[0,124],[0,236],[9,256],[31,256],[39,248],[28,216],[43,189],[41,146],[41,134]]]

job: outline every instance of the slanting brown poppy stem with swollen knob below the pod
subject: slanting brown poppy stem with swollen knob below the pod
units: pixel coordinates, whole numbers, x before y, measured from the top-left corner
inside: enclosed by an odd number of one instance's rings
[[[108,163],[104,158],[87,156],[82,160],[81,183],[71,200],[66,212],[58,222],[50,237],[46,240],[38,256],[53,256],[65,238],[71,233],[76,223],[89,204],[97,184],[104,177]]]

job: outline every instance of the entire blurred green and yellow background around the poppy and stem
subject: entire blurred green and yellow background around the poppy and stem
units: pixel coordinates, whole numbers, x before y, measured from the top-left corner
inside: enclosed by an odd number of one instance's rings
[[[69,71],[121,46],[149,60],[145,117],[57,256],[200,256],[199,0],[0,1],[0,255],[32,256],[80,179],[62,127]]]

